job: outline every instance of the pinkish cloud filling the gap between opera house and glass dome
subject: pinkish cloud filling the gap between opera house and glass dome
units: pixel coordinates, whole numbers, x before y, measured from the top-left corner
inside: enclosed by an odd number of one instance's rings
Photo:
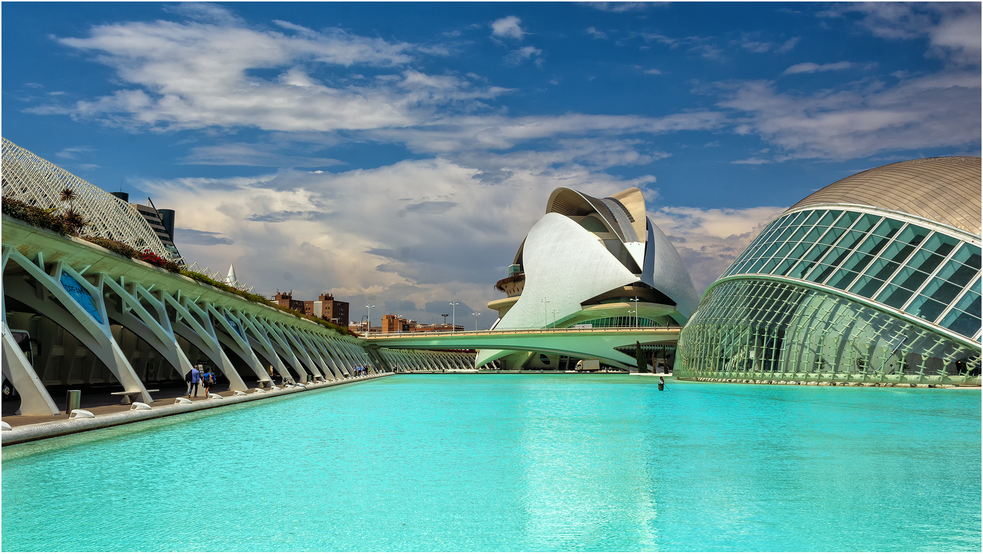
[[[784,209],[665,206],[650,211],[649,217],[679,251],[702,294]]]

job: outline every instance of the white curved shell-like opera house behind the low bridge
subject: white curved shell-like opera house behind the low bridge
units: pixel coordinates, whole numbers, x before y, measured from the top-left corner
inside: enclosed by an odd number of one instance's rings
[[[492,329],[682,325],[699,302],[675,247],[637,188],[596,198],[561,187],[495,288]],[[557,367],[558,357],[483,350],[477,364]]]

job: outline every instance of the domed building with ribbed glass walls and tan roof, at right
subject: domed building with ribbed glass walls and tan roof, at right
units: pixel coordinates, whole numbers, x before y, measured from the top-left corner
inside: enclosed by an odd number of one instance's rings
[[[909,160],[810,194],[704,293],[683,378],[980,384],[980,158]]]

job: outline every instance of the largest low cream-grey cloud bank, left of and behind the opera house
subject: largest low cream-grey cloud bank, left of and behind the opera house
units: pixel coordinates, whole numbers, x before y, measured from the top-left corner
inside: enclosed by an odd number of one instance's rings
[[[178,248],[187,259],[221,268],[234,262],[262,293],[291,288],[315,298],[327,291],[376,305],[457,298],[487,311],[500,296],[494,281],[553,189],[607,195],[652,181],[620,180],[578,164],[499,161],[512,165],[498,166],[494,176],[486,174],[491,168],[437,158],[338,174],[280,170],[140,187],[157,205],[177,210]]]

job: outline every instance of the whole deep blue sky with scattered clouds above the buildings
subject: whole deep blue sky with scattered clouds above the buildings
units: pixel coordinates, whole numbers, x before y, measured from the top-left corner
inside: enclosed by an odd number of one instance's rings
[[[189,260],[480,326],[549,193],[641,188],[702,291],[843,177],[979,155],[980,5],[4,3],[3,136]],[[459,321],[460,322],[460,321]],[[473,323],[471,323],[473,324]]]

